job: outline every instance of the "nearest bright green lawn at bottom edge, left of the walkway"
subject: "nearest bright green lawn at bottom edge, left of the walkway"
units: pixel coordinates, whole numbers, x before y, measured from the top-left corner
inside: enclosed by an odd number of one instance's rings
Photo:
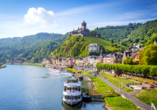
[[[121,96],[105,97],[105,102],[106,105],[113,110],[141,110],[131,101],[124,99]]]

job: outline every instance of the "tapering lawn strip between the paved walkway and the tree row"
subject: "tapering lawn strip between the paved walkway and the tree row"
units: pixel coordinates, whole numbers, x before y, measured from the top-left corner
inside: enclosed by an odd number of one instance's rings
[[[124,85],[126,85],[127,83],[135,83],[135,82],[129,81],[126,79],[122,79],[122,78],[118,78],[118,77],[114,77],[113,75],[109,75],[109,74],[102,73],[102,72],[100,72],[99,74],[102,75],[104,78],[106,78],[108,81],[110,81],[112,84],[114,84],[117,87],[119,87],[119,82],[120,82],[121,85],[123,85],[123,90],[125,92],[129,92],[129,93],[134,92],[134,90],[124,87]]]

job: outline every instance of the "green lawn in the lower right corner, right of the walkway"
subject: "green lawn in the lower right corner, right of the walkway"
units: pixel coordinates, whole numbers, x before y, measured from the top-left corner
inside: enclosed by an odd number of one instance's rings
[[[151,105],[151,102],[157,107],[157,90],[141,90],[136,97],[142,102]]]

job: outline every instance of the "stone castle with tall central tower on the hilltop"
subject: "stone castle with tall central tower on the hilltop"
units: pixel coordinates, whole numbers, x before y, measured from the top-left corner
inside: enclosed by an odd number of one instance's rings
[[[72,35],[78,35],[78,36],[91,36],[91,37],[99,37],[101,38],[100,34],[91,34],[90,30],[86,28],[86,23],[85,21],[83,21],[82,23],[82,27],[78,28],[77,30],[73,30],[72,32],[70,32],[69,36]]]

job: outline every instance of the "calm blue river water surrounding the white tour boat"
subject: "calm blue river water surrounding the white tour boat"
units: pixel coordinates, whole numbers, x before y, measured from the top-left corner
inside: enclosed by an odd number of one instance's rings
[[[6,65],[0,69],[0,110],[105,110],[104,102],[74,107],[62,103],[63,83],[71,75],[49,73],[39,66]],[[82,89],[87,88],[82,83]]]

